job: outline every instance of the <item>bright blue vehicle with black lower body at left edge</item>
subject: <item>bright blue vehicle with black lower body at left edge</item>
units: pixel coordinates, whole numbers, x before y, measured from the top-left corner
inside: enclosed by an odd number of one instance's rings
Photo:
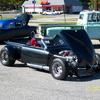
[[[0,20],[0,41],[29,36],[36,26],[28,26],[31,16],[21,14],[12,19]]]

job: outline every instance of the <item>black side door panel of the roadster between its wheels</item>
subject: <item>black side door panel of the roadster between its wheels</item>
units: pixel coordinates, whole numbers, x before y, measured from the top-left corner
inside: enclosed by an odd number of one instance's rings
[[[48,52],[35,47],[22,47],[21,59],[26,63],[46,65],[48,61]]]

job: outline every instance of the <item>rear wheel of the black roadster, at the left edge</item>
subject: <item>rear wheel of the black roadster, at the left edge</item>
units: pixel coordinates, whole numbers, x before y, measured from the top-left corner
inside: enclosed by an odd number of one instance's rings
[[[13,66],[15,59],[12,57],[12,52],[9,51],[7,47],[2,48],[0,52],[0,61],[5,66]]]

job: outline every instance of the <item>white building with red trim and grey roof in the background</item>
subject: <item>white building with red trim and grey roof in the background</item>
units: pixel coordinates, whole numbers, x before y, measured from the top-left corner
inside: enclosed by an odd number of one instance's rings
[[[44,10],[76,13],[82,10],[79,0],[27,0],[22,5],[22,12],[43,12]]]

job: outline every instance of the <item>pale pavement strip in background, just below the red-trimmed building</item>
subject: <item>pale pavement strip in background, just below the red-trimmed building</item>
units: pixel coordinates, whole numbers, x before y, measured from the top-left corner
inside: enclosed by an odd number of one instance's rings
[[[33,23],[40,23],[40,22],[76,22],[78,19],[78,15],[75,14],[65,14],[65,15],[41,15],[42,18],[34,18],[30,20]],[[44,17],[43,17],[44,16]],[[46,18],[47,17],[47,18]],[[32,24],[32,23],[29,23]]]

